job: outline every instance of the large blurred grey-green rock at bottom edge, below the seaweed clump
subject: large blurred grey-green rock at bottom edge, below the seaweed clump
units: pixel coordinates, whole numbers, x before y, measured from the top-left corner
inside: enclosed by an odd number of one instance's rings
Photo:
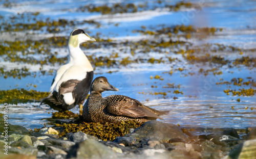
[[[67,158],[117,158],[113,150],[98,141],[87,139],[76,143],[68,152]]]

